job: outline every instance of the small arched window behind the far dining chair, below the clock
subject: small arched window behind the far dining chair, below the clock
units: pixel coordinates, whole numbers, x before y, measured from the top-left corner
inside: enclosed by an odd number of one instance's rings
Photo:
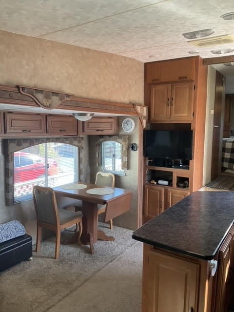
[[[103,171],[125,175],[122,169],[122,144],[116,141],[101,143],[101,166]]]

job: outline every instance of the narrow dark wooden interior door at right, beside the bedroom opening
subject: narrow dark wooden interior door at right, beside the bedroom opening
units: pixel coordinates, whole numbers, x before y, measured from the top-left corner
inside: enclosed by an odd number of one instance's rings
[[[223,93],[225,92],[223,86],[223,76],[216,71],[216,84],[215,84],[215,114],[214,114],[214,129],[213,129],[213,141],[212,141],[212,160],[211,160],[211,179],[213,180],[219,173],[219,149],[220,146],[220,133],[221,118],[222,118],[222,101]],[[220,168],[221,170],[221,168]]]

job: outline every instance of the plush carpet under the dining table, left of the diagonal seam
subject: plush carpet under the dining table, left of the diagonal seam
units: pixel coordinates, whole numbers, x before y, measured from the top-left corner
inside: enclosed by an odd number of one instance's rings
[[[0,273],[0,311],[45,312],[137,244],[131,230],[116,226],[110,230],[108,224],[99,225],[115,241],[98,241],[94,255],[89,246],[60,245],[59,259],[55,260],[52,237],[41,242],[32,261]],[[73,234],[71,230],[62,232],[61,242]]]

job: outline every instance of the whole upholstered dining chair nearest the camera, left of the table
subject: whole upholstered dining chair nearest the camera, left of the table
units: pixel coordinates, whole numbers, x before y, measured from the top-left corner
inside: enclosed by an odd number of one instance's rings
[[[33,187],[33,200],[37,216],[37,244],[36,252],[40,249],[41,229],[46,228],[56,232],[55,259],[59,257],[59,245],[61,230],[78,224],[78,244],[82,234],[82,213],[58,209],[56,195],[50,187]]]

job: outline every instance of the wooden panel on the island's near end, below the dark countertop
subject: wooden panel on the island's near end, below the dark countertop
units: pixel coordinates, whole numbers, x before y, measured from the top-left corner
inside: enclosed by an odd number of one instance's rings
[[[142,312],[196,312],[199,265],[149,251],[144,262]]]

